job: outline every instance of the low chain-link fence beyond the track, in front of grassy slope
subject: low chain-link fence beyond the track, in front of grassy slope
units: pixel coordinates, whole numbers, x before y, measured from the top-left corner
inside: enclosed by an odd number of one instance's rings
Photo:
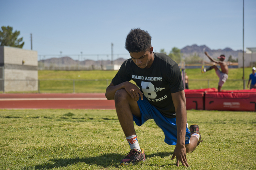
[[[3,81],[0,79],[0,81]],[[30,91],[37,93],[105,93],[111,79],[95,79],[95,80],[77,80],[77,79],[40,79],[40,80],[4,80],[4,83],[22,83],[36,84],[38,83],[38,91]],[[218,88],[218,79],[190,79],[190,89]],[[246,87],[247,80],[230,79],[227,80],[222,90],[242,90]],[[2,84],[4,84],[2,82]],[[2,85],[3,86],[3,85]],[[4,92],[4,88],[0,91]],[[22,90],[17,90],[22,92]]]

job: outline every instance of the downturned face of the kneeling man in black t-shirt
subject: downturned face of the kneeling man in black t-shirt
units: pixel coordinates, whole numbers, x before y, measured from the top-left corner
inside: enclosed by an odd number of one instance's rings
[[[149,51],[131,53],[132,61],[140,68],[150,68],[154,61],[153,47]]]

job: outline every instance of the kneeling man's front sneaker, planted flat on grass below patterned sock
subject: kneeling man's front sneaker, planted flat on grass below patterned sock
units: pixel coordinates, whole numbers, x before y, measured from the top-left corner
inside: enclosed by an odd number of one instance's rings
[[[140,161],[145,161],[145,153],[144,149],[141,148],[141,152],[138,149],[131,149],[130,152],[127,153],[125,158],[121,160],[120,165],[128,165],[128,164],[136,164]]]

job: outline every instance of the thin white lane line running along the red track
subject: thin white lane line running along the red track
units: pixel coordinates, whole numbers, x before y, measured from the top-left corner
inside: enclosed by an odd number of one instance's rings
[[[1,98],[0,101],[26,101],[26,100],[107,100],[106,98]]]

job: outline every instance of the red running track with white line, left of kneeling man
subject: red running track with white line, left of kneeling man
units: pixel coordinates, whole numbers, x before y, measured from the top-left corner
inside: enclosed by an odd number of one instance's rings
[[[104,93],[0,94],[0,109],[115,109]]]

